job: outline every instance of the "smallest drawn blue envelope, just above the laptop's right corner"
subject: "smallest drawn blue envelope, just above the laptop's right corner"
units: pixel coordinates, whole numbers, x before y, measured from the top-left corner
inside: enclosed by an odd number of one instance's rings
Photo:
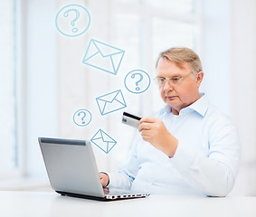
[[[90,139],[90,141],[96,146],[99,146],[100,149],[106,154],[108,154],[113,146],[117,144],[117,142],[113,138],[109,137],[109,135],[106,134],[102,129],[99,129],[99,131]]]

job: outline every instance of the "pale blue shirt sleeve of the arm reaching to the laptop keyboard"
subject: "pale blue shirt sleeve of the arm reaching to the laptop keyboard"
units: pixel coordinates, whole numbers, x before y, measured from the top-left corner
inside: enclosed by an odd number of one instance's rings
[[[133,180],[135,179],[139,164],[137,160],[137,143],[139,137],[137,136],[133,142],[131,151],[126,160],[119,166],[118,172],[109,173],[109,188],[121,188],[129,190]]]

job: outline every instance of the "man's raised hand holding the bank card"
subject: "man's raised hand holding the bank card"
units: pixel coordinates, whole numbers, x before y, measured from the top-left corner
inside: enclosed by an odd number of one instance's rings
[[[169,133],[162,120],[153,117],[141,118],[138,122],[138,131],[145,141],[167,156],[175,156],[178,140]]]

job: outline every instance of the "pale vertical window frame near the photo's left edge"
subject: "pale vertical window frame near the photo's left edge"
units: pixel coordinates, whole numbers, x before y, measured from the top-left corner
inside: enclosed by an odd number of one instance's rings
[[[15,116],[15,150],[14,168],[8,171],[0,171],[1,183],[6,180],[22,178],[25,175],[25,89],[26,76],[25,65],[25,23],[23,0],[14,0],[14,116]]]

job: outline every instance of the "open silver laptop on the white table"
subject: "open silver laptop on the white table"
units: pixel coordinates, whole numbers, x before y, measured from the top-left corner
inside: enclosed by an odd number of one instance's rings
[[[50,137],[39,137],[38,140],[52,189],[56,193],[100,201],[149,195],[103,189],[90,141]]]

